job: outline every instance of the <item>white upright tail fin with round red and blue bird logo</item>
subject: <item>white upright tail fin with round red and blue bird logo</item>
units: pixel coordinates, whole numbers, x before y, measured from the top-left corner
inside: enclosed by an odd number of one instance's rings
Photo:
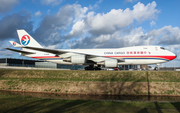
[[[43,48],[33,37],[31,37],[25,30],[17,30],[19,41],[23,46]]]

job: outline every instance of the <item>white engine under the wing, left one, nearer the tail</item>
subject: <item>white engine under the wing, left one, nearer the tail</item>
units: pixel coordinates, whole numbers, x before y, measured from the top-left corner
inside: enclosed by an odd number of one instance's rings
[[[87,59],[86,55],[73,55],[69,58],[64,58],[63,61],[71,62],[73,64],[85,64]]]

